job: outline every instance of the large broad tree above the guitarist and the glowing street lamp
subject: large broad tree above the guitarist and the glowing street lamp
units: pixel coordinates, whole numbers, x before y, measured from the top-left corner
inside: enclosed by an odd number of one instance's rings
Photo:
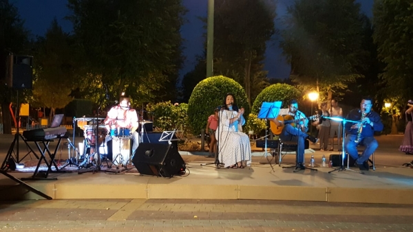
[[[281,47],[291,63],[291,79],[331,100],[332,93],[362,76],[360,5],[354,0],[299,0],[288,8]]]

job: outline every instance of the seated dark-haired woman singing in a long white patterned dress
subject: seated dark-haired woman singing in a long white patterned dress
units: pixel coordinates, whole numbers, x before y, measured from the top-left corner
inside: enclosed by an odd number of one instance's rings
[[[220,124],[215,131],[218,138],[218,159],[226,168],[244,168],[251,163],[251,144],[242,130],[244,108],[238,108],[232,93],[225,96],[219,113]]]

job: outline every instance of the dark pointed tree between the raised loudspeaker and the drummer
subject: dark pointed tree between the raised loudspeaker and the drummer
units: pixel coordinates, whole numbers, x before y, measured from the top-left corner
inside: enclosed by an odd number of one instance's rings
[[[50,108],[52,119],[56,108],[64,108],[76,82],[74,49],[69,34],[63,32],[54,19],[45,37],[36,42],[36,78],[33,85],[33,101],[41,107]]]

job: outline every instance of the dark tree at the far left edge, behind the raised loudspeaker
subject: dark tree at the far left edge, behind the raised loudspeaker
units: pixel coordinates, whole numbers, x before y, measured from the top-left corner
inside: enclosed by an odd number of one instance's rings
[[[0,0],[0,76],[4,80],[6,74],[6,58],[9,54],[25,54],[30,47],[29,32],[23,27],[24,21],[20,19],[17,8],[8,0]],[[8,86],[0,84],[0,103],[3,115],[3,132],[12,133],[12,120],[9,111],[12,96],[17,96]],[[30,91],[19,92],[19,102]]]

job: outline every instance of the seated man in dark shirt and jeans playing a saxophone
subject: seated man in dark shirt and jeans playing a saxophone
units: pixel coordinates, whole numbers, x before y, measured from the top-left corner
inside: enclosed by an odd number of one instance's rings
[[[360,170],[368,170],[368,158],[379,146],[377,140],[374,139],[374,131],[383,130],[383,123],[380,115],[372,111],[372,98],[363,97],[360,108],[356,108],[348,113],[346,119],[351,121],[359,121],[359,123],[346,123],[346,141],[344,147],[346,151],[359,165]],[[361,118],[363,115],[363,119]],[[361,128],[360,128],[361,127]],[[357,146],[364,146],[363,153],[359,156]]]

